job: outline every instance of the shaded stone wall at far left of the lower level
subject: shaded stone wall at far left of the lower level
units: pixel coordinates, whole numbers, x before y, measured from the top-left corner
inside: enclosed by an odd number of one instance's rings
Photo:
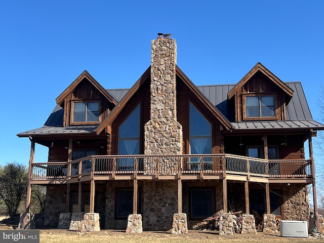
[[[47,186],[44,225],[57,227],[60,213],[66,212],[66,185]]]

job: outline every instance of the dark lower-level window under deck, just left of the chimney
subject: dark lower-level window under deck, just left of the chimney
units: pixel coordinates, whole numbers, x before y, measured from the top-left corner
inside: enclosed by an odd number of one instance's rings
[[[133,214],[133,189],[116,189],[116,218]]]

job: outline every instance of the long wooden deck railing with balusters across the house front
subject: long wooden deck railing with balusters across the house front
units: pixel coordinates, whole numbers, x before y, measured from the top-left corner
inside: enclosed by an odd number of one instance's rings
[[[265,178],[311,177],[310,160],[265,160],[231,154],[92,155],[67,163],[33,163],[31,180],[100,175],[246,175]]]

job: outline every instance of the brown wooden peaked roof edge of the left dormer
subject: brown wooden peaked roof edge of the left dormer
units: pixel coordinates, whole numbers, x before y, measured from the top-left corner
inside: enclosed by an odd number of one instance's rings
[[[91,76],[91,74],[84,70],[73,82],[70,84],[57,98],[56,103],[58,105],[61,105],[69,94],[73,92],[73,90],[77,87],[77,85],[84,79],[87,78],[87,80],[94,86],[96,89],[104,96],[106,97],[111,103],[117,104],[118,102],[97,82],[97,80]]]

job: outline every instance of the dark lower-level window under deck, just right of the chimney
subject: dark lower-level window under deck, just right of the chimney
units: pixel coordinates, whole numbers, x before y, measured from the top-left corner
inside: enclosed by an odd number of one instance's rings
[[[195,188],[190,190],[191,218],[207,218],[214,212],[214,190]]]

